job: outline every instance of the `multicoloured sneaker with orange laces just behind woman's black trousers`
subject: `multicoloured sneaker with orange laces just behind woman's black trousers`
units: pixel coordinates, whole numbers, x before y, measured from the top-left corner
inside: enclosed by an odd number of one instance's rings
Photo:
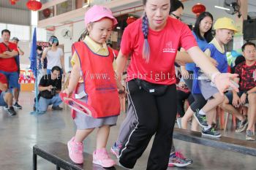
[[[170,154],[168,166],[184,167],[189,166],[193,161],[191,159],[184,158],[181,152],[173,152]]]

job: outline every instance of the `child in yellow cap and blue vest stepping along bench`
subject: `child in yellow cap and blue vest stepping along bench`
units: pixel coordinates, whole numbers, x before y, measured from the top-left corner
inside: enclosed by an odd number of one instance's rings
[[[215,37],[205,47],[204,52],[208,57],[217,61],[217,69],[219,72],[227,73],[228,65],[224,45],[227,45],[227,43],[230,42],[233,38],[233,34],[237,32],[237,29],[232,19],[219,18],[214,23],[214,30],[216,31]],[[197,110],[197,112],[194,113],[194,116],[200,126],[203,127],[203,135],[220,137],[221,134],[211,125],[214,120],[214,115],[216,115],[217,107],[224,101],[224,96],[219,93],[219,90],[217,90],[214,83],[211,82],[211,80],[208,80],[208,77],[206,77],[207,75],[200,71],[200,69],[195,68],[194,73],[193,93],[201,92],[203,97],[207,100],[206,105],[202,109]]]

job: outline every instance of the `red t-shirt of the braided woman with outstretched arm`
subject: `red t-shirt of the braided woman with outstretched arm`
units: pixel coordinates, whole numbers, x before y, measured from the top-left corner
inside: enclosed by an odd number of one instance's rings
[[[143,59],[144,36],[142,19],[129,24],[121,40],[121,52],[131,54],[131,63],[127,69],[127,81],[139,78],[162,85],[176,83],[174,61],[178,47],[189,50],[197,46],[189,27],[181,21],[167,18],[167,24],[161,31],[148,30],[150,59]]]

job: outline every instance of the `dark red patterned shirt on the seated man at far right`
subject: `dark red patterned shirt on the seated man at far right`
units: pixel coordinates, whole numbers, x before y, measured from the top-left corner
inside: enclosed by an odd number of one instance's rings
[[[239,75],[239,89],[248,91],[256,87],[256,61],[252,66],[247,66],[246,62],[236,66],[235,73]]]

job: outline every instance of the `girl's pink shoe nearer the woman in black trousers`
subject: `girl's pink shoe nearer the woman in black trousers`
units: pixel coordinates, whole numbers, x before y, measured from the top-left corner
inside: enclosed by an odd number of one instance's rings
[[[105,168],[116,165],[116,162],[109,157],[108,152],[105,148],[94,151],[92,163]]]

